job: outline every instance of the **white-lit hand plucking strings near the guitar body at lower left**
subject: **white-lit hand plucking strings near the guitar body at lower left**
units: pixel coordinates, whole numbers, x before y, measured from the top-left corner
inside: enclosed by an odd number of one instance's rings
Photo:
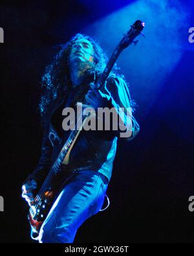
[[[37,189],[37,182],[36,180],[28,180],[22,186],[22,197],[28,202],[28,205],[33,205],[34,203],[34,194],[33,191]]]

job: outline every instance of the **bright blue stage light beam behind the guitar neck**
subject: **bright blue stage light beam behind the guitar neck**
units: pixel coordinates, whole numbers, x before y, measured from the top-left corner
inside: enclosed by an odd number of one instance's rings
[[[129,81],[130,91],[139,106],[142,119],[160,93],[167,76],[175,69],[183,52],[190,13],[180,1],[140,0],[85,27],[85,34],[99,39],[111,56],[114,47],[136,19],[146,23],[146,38],[120,55],[117,64]],[[130,86],[131,85],[131,86]]]

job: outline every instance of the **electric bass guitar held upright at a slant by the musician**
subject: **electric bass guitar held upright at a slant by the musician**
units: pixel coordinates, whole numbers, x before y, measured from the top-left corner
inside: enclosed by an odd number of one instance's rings
[[[113,54],[109,59],[109,62],[107,63],[102,75],[100,75],[98,78],[98,89],[103,88],[105,81],[107,80],[107,77],[109,76],[109,73],[111,72],[111,69],[113,68],[113,65],[120,53],[129,45],[138,41],[135,41],[135,38],[139,34],[142,34],[141,31],[143,29],[144,23],[137,20],[133,25],[131,25],[131,29],[127,31],[126,34],[124,34],[122,40],[114,49]],[[87,121],[87,116],[85,117],[81,115],[80,118],[82,119],[81,126],[83,127],[85,121]],[[38,240],[39,230],[45,218],[47,218],[48,212],[54,204],[54,201],[56,200],[63,185],[61,184],[56,186],[56,184],[58,184],[56,180],[60,180],[59,176],[61,175],[61,165],[67,166],[69,164],[70,151],[72,150],[72,147],[74,146],[74,143],[76,142],[76,139],[78,139],[78,136],[81,132],[81,127],[77,129],[77,125],[78,124],[76,124],[74,130],[70,132],[67,141],[65,141],[65,144],[61,148],[61,151],[59,152],[59,155],[54,162],[54,165],[52,165],[52,168],[49,170],[47,178],[39,189],[33,204],[30,206],[28,219],[31,226],[31,237],[34,240]]]

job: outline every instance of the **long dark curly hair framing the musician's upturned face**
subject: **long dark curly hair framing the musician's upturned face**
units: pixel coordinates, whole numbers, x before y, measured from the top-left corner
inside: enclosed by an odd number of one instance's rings
[[[48,117],[48,113],[52,113],[57,106],[64,99],[65,92],[72,86],[69,71],[69,54],[72,45],[76,40],[87,39],[91,41],[94,48],[94,63],[90,69],[85,72],[85,76],[95,73],[96,76],[100,75],[107,64],[107,56],[103,52],[99,43],[91,36],[84,34],[76,34],[65,45],[61,45],[61,49],[54,57],[53,62],[45,69],[45,74],[41,78],[41,99],[39,102],[39,111],[41,119],[44,121]],[[113,67],[112,73],[124,78],[123,75],[118,74],[119,68],[116,64]]]

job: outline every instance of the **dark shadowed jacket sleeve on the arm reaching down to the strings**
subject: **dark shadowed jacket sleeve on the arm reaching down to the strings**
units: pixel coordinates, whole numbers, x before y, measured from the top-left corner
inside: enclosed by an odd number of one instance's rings
[[[49,129],[50,130],[50,129]],[[43,183],[45,178],[47,177],[48,170],[50,169],[51,165],[51,157],[52,157],[52,143],[49,139],[49,130],[48,132],[44,132],[42,145],[41,145],[41,157],[39,158],[39,163],[36,169],[28,175],[27,179],[24,183],[28,180],[34,179],[38,183],[38,187]]]

